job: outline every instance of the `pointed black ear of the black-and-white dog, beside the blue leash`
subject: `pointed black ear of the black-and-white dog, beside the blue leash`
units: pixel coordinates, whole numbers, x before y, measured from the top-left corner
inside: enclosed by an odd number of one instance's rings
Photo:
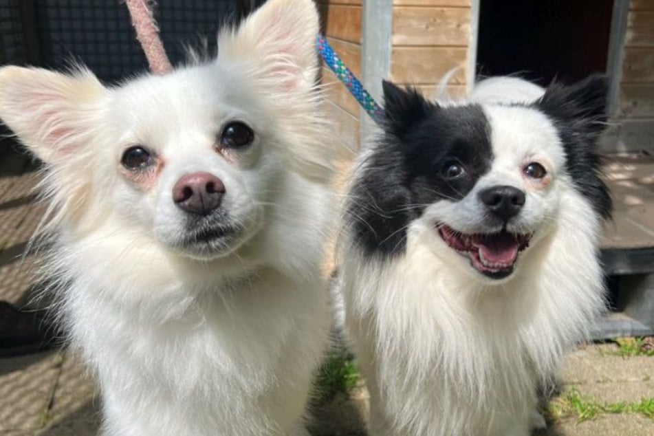
[[[401,137],[417,121],[422,119],[433,103],[428,102],[409,87],[402,89],[388,80],[382,81],[384,89],[384,112],[386,130]]]

